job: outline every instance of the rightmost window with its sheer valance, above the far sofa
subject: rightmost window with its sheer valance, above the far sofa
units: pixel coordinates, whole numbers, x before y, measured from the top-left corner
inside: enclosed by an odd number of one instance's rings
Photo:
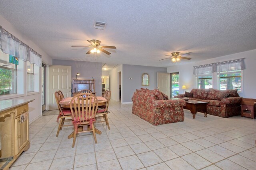
[[[244,69],[244,59],[215,63],[214,70],[218,74],[218,89],[242,91],[242,70]]]

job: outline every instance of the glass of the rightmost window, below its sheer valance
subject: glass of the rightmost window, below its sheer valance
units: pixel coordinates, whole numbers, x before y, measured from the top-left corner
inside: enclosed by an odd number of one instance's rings
[[[220,90],[227,89],[238,89],[242,90],[242,77],[241,73],[220,73]]]

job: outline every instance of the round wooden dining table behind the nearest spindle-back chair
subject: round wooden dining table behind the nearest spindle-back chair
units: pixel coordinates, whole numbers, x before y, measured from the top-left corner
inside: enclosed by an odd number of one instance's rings
[[[97,98],[97,100],[98,100],[98,106],[104,106],[104,105],[106,105],[107,104],[107,101],[108,100],[106,100],[104,97],[102,97],[102,96],[96,96],[96,98]],[[65,99],[63,99],[63,100],[61,100],[60,101],[60,107],[64,107],[64,108],[70,108],[70,102],[71,102],[71,100],[72,100],[72,97],[68,97],[68,98],[65,98]],[[82,129],[83,127],[79,127],[78,128],[78,131],[83,131],[83,129]],[[95,129],[95,133],[97,133],[97,134],[101,134],[101,131],[99,130],[99,129],[97,129],[97,128],[95,128],[94,127],[94,129]],[[73,137],[73,132],[70,134],[70,135],[68,135],[68,139],[70,139],[70,138],[72,138]]]

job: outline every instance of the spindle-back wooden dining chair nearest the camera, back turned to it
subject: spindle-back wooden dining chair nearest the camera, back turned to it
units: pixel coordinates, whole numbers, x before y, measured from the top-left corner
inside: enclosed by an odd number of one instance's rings
[[[77,133],[92,132],[94,141],[97,143],[94,129],[95,115],[98,109],[98,99],[96,96],[91,93],[79,93],[70,101],[70,109],[74,126],[72,147],[74,148],[76,143]]]

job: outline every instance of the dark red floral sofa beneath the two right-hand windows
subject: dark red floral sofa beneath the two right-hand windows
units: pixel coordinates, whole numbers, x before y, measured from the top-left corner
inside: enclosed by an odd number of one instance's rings
[[[179,94],[178,98],[188,97],[190,100],[210,102],[207,104],[207,114],[220,117],[241,115],[242,100],[235,90],[192,89],[190,93]]]

